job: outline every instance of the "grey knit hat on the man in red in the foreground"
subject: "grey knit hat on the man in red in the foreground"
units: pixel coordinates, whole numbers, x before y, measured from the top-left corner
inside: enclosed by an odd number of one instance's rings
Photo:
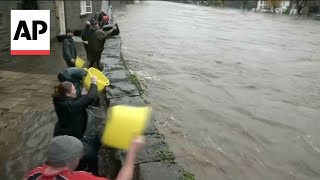
[[[54,167],[63,167],[68,163],[81,158],[83,155],[82,142],[72,136],[54,137],[47,150],[47,164]]]

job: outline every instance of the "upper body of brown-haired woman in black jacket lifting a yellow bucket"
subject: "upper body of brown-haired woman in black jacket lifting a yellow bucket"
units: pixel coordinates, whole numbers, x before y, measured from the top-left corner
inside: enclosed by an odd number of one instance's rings
[[[88,107],[97,98],[97,77],[92,76],[92,83],[87,94],[77,97],[75,86],[64,81],[54,87],[53,104],[58,117],[54,136],[70,135],[83,138],[87,127]]]

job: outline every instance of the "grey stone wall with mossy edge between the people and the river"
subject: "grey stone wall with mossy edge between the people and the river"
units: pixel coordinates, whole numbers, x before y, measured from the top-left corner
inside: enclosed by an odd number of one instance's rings
[[[108,107],[127,104],[145,105],[137,88],[137,82],[127,69],[121,56],[121,38],[114,36],[105,43],[101,56],[103,73],[108,76],[111,85],[104,95]],[[175,156],[169,149],[165,137],[159,133],[152,120],[145,132],[146,147],[139,154],[135,168],[135,180],[179,180],[190,179],[188,173],[175,161]],[[100,151],[100,170],[102,175],[115,178],[125,160],[125,152],[102,148]]]

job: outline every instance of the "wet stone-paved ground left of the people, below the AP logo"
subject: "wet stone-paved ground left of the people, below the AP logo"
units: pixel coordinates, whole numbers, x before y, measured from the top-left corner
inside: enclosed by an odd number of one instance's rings
[[[57,121],[51,94],[66,68],[61,44],[50,56],[12,56],[0,64],[0,179],[15,180],[45,161]],[[76,44],[81,57],[84,49]]]

